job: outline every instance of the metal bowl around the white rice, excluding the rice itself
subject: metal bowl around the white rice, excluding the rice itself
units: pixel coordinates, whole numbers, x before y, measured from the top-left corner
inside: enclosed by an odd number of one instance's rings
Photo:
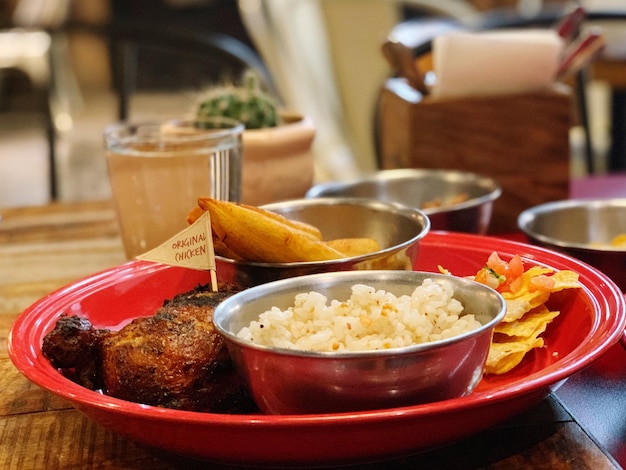
[[[454,297],[482,326],[469,333],[402,348],[312,352],[253,344],[237,337],[259,314],[293,305],[300,292],[345,300],[357,283],[410,295],[425,278],[451,283]],[[307,414],[390,408],[461,397],[482,377],[493,327],[506,306],[494,290],[450,275],[415,271],[351,271],[286,279],[235,294],[213,314],[236,367],[262,411]]]

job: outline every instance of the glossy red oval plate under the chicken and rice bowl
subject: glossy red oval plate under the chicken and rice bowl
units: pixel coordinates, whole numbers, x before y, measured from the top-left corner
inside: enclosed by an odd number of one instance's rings
[[[565,255],[506,240],[434,232],[416,269],[442,265],[474,274],[492,251],[520,254],[528,265],[572,269],[583,289],[568,297],[548,327],[546,347],[469,396],[426,405],[327,415],[218,415],[144,406],[103,396],[65,379],[41,355],[44,335],[62,312],[113,327],[151,315],[164,299],[208,282],[205,272],[129,262],[62,288],[18,318],[9,354],[31,381],[71,401],[103,426],[136,441],[189,457],[236,464],[340,464],[417,452],[493,426],[543,399],[550,387],[619,341],[626,325],[622,293],[604,274]],[[224,272],[220,272],[225,276]]]

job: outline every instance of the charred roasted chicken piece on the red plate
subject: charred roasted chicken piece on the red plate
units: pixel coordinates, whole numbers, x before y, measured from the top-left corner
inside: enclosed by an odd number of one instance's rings
[[[215,306],[233,293],[201,286],[119,331],[62,316],[44,338],[43,354],[81,385],[123,400],[212,413],[254,411],[212,322]]]

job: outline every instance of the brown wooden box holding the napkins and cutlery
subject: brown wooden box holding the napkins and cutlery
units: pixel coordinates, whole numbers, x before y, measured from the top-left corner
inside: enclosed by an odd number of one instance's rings
[[[515,95],[435,99],[402,79],[386,82],[379,101],[382,169],[471,171],[502,186],[489,233],[517,231],[531,206],[569,196],[569,87]]]

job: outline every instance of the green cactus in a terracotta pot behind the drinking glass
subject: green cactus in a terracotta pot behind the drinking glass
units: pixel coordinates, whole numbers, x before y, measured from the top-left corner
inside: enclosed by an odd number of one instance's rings
[[[256,74],[244,73],[242,85],[210,88],[199,98],[198,116],[225,116],[245,125],[241,201],[262,205],[303,197],[311,187],[315,128],[310,119],[280,109],[264,92]]]

